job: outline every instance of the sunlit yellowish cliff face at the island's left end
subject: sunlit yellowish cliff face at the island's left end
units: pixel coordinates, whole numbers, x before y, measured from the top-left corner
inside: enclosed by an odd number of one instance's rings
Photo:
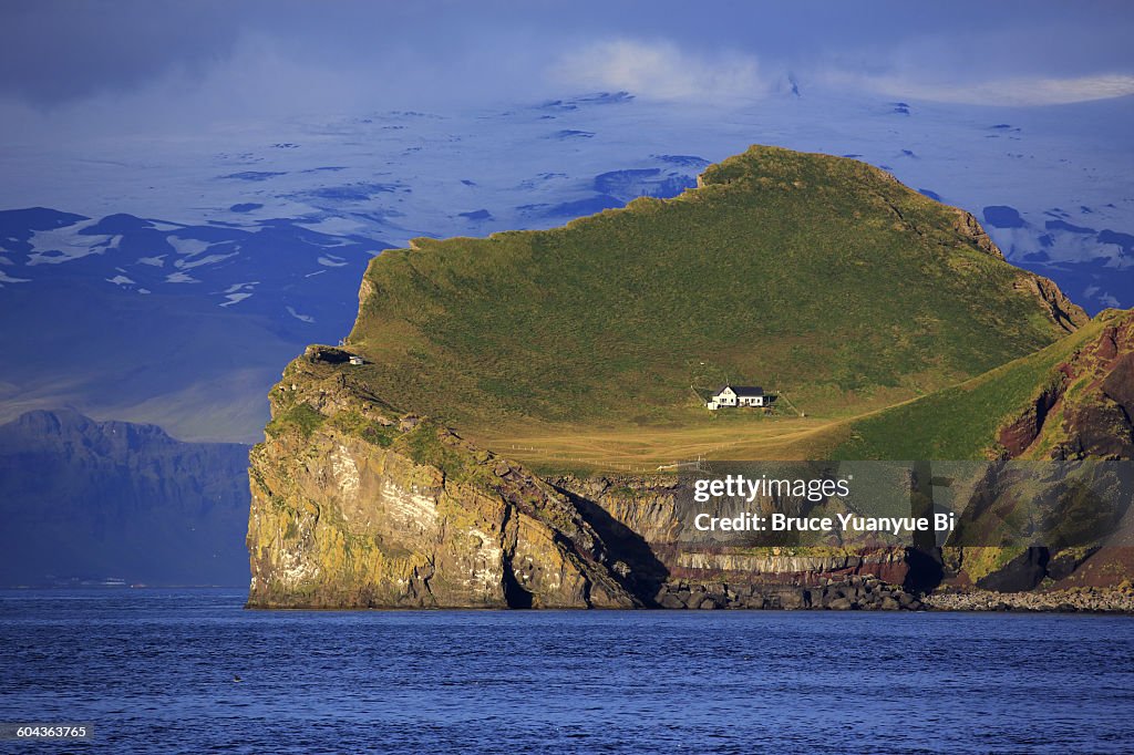
[[[633,608],[619,567],[550,485],[399,416],[337,349],[272,391],[251,459],[253,606]]]

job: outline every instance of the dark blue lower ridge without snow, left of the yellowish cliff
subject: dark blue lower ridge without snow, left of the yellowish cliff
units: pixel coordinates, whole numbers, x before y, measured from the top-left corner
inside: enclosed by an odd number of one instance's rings
[[[244,584],[247,455],[67,409],[0,425],[0,584]]]

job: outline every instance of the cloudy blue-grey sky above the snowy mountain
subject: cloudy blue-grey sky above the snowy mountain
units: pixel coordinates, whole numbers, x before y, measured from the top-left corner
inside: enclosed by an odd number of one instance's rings
[[[790,87],[1039,107],[1134,94],[1127,2],[6,0],[0,143],[371,108]]]

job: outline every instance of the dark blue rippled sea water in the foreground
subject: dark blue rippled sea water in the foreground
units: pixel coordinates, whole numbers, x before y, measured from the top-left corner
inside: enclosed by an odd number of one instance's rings
[[[1129,617],[243,601],[0,591],[0,752],[1134,752]]]

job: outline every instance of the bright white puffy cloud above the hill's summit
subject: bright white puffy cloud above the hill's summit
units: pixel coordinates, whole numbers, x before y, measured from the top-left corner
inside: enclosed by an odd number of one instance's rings
[[[560,57],[551,68],[559,84],[577,88],[625,90],[657,100],[755,99],[768,92],[750,54],[712,57],[671,42],[610,40]]]

